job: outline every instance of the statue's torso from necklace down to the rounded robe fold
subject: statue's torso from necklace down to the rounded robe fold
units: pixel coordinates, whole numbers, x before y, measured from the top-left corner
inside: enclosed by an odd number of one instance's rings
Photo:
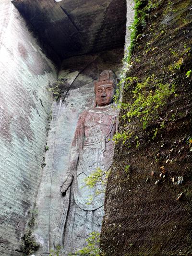
[[[108,171],[114,151],[113,135],[116,132],[117,110],[107,108],[93,108],[88,111],[84,121],[84,146],[79,154],[77,167],[77,183],[75,201],[85,210],[93,210],[103,206],[104,193],[96,195],[96,191],[104,190],[97,183],[93,189],[87,188],[84,179],[97,168]],[[77,193],[76,193],[77,192]],[[90,196],[92,200],[90,201]]]

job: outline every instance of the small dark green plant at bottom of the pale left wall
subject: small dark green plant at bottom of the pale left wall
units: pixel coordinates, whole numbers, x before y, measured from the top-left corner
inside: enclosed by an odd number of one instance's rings
[[[32,232],[29,229],[24,232],[22,240],[24,241],[23,250],[26,256],[32,255],[40,245],[36,242],[34,235],[32,235]]]

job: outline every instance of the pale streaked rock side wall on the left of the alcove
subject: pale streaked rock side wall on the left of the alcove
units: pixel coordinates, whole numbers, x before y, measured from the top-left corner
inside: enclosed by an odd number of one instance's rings
[[[0,255],[21,255],[36,202],[54,65],[9,0],[0,1]]]

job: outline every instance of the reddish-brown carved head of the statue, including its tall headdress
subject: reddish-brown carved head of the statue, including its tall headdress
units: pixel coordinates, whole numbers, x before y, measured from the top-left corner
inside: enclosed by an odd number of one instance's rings
[[[106,106],[113,102],[116,76],[111,70],[104,70],[95,82],[96,105]]]

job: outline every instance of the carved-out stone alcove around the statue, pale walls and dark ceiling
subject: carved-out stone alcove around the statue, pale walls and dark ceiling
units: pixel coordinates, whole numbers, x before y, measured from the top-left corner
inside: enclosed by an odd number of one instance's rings
[[[42,243],[36,255],[53,247],[63,210],[60,183],[77,118],[93,106],[93,81],[99,73],[111,69],[119,76],[126,13],[127,26],[133,16],[131,1],[127,5],[125,0],[3,0],[0,117],[6,122],[0,126],[1,255],[23,254],[21,236],[34,205],[33,231]],[[48,84],[60,77],[66,79],[65,100],[53,102]]]

